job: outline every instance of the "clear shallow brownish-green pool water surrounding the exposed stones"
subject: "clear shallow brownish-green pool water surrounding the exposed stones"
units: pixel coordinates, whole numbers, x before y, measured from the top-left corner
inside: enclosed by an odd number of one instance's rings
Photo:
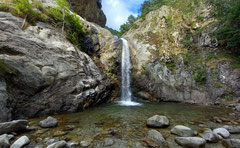
[[[59,121],[59,125],[53,129],[41,129],[39,121],[46,118],[31,119],[31,127],[36,131],[25,133],[32,141],[41,143],[45,138],[53,138],[57,134],[60,139],[80,142],[91,142],[90,147],[103,147],[103,141],[110,137],[115,140],[112,148],[145,147],[143,142],[147,131],[146,120],[156,114],[165,115],[170,120],[168,128],[158,128],[170,148],[178,148],[174,142],[175,136],[170,134],[170,129],[175,125],[186,125],[200,132],[203,127],[221,127],[221,124],[212,122],[213,117],[228,117],[231,109],[217,107],[203,107],[196,105],[160,103],[143,104],[142,106],[119,106],[118,104],[105,104],[79,113],[53,115]],[[73,125],[74,129],[66,131],[67,126]],[[111,135],[111,131],[116,131]],[[54,136],[55,135],[55,136]],[[235,137],[240,138],[239,135]],[[222,144],[207,144],[207,148],[222,148]]]

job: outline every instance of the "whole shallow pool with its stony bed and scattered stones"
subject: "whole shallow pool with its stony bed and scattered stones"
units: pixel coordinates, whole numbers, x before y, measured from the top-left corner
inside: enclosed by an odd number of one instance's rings
[[[106,104],[79,113],[29,119],[28,126],[25,120],[9,122],[12,131],[6,131],[9,126],[1,124],[0,131],[5,130],[1,134],[8,135],[0,137],[0,145],[21,147],[20,143],[27,148],[239,147],[239,115],[234,112],[232,108],[177,103],[137,107]],[[22,129],[14,129],[16,124],[21,124]]]

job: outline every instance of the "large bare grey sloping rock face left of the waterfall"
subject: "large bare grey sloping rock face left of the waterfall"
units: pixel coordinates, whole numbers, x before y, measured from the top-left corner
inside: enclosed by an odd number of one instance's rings
[[[22,30],[22,19],[5,12],[0,18],[0,61],[14,71],[0,81],[0,96],[10,103],[1,104],[4,120],[74,112],[107,100],[110,80],[55,28],[38,23]]]

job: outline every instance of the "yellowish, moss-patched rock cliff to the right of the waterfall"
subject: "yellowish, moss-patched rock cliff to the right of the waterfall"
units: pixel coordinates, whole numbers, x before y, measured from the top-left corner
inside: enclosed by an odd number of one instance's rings
[[[133,62],[133,85],[158,101],[214,104],[240,96],[240,69],[211,34],[217,20],[201,4],[191,15],[162,6],[124,35]],[[233,67],[233,65],[235,65]]]

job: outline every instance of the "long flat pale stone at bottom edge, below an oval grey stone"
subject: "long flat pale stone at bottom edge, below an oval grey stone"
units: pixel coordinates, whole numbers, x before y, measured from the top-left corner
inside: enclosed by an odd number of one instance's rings
[[[200,137],[176,137],[175,142],[186,148],[199,148],[206,144],[206,140]]]

